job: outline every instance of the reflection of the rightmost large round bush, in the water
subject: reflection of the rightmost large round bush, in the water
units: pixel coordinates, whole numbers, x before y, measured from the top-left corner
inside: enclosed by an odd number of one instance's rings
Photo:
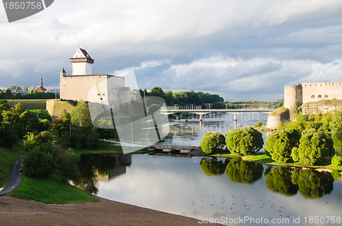
[[[293,184],[297,184],[300,194],[306,199],[316,199],[328,195],[332,191],[331,173],[314,169],[295,169],[291,175]]]

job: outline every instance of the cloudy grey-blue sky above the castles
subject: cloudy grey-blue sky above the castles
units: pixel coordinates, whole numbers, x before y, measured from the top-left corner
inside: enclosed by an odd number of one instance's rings
[[[8,23],[0,87],[59,86],[78,46],[94,74],[133,71],[140,88],[276,100],[284,85],[342,81],[341,0],[57,0]]]

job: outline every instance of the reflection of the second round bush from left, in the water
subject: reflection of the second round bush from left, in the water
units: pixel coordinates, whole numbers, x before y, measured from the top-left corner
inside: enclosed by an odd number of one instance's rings
[[[226,175],[234,183],[253,184],[263,176],[263,165],[233,158],[226,166]]]

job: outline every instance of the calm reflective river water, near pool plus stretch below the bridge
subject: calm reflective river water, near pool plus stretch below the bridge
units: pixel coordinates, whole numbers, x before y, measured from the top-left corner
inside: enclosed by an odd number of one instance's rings
[[[225,134],[233,128],[229,115],[208,117],[203,124],[172,122],[163,143],[199,145],[205,132]],[[239,115],[238,124],[252,126],[267,115]],[[264,135],[266,137],[266,135]],[[272,167],[230,158],[127,154],[81,157],[82,179],[75,183],[100,197],[172,214],[207,218],[227,225],[253,218],[264,225],[341,225],[342,183],[338,173]],[[340,224],[331,224],[333,216]],[[306,217],[306,220],[305,220]],[[274,220],[272,220],[274,218]],[[224,221],[223,221],[224,220]],[[311,221],[312,220],[312,221]],[[330,220],[330,223],[328,223]],[[295,224],[293,223],[299,224]],[[241,225],[254,225],[253,220]],[[307,224],[305,224],[307,223]],[[313,224],[311,224],[313,225]]]

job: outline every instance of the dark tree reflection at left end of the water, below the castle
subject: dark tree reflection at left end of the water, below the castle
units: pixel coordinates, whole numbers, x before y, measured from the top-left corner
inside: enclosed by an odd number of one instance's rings
[[[73,180],[73,184],[88,193],[98,193],[98,175],[108,175],[109,170],[114,169],[116,157],[114,155],[81,155],[79,171],[81,177]]]

